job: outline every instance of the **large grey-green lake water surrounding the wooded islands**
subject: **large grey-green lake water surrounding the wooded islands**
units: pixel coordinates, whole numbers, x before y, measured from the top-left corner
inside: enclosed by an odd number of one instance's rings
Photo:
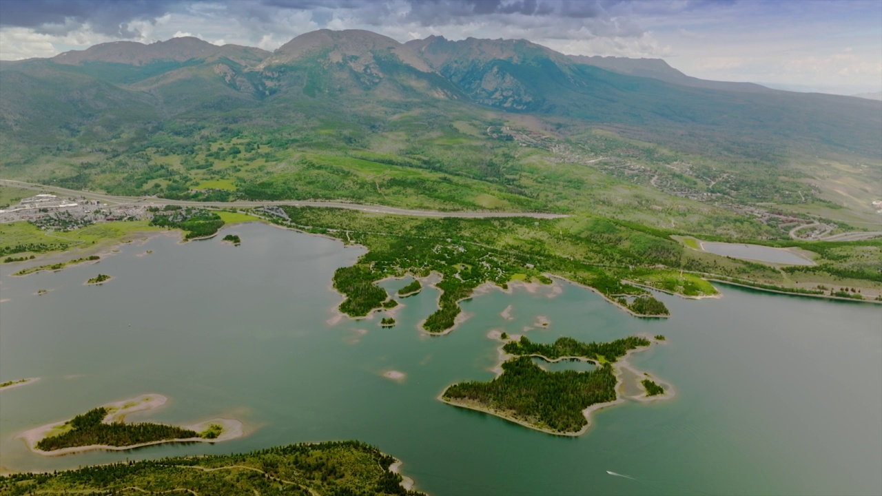
[[[226,234],[242,245],[222,243]],[[490,291],[463,304],[471,317],[451,334],[430,336],[417,324],[435,309],[431,288],[400,299],[395,327],[379,327],[381,316],[334,322],[333,272],[363,248],[256,223],[187,244],[176,236],[58,273],[12,277],[26,266],[0,266],[0,381],[41,378],[0,393],[2,470],[357,439],[403,460],[434,496],[882,493],[877,305],[726,286],[719,299],[659,294],[671,317],[637,319],[564,283],[557,296]],[[113,279],[83,284],[99,273]],[[508,305],[513,319],[500,315]],[[548,326],[534,325],[540,316]],[[676,396],[595,412],[577,438],[438,402],[454,382],[492,379],[492,330],[534,342],[664,334],[631,363]],[[392,370],[405,377],[385,378]],[[231,417],[246,435],[52,458],[15,439],[148,393],[168,403],[127,420]]]

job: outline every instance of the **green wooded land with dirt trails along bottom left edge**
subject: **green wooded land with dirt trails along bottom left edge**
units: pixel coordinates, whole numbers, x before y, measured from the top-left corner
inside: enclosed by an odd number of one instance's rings
[[[180,456],[0,477],[0,494],[377,494],[420,496],[400,462],[359,441],[303,443],[238,455]],[[407,487],[405,487],[407,486]]]

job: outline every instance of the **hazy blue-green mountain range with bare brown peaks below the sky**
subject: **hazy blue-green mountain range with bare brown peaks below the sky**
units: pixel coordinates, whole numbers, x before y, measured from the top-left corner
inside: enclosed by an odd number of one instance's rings
[[[243,132],[348,150],[384,149],[377,140],[403,132],[411,144],[396,153],[419,161],[415,130],[527,118],[560,139],[612,132],[770,180],[768,168],[798,157],[882,157],[880,101],[707,81],[658,59],[566,56],[525,40],[400,43],[323,29],[273,52],[182,37],[2,62],[0,174],[25,177],[51,156],[82,175],[85,159],[71,157],[107,160],[157,139],[192,150]]]

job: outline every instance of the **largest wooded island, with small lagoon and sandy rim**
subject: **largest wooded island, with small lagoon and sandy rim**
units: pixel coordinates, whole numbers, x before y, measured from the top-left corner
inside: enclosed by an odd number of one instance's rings
[[[495,369],[496,379],[454,384],[438,399],[565,436],[587,432],[592,411],[624,401],[624,374],[646,377],[627,363],[627,357],[657,342],[648,336],[587,343],[561,337],[552,344],[542,344],[524,336],[506,340],[501,334],[491,334],[505,343],[500,348],[502,364]],[[575,359],[591,362],[597,368],[588,372],[549,372],[536,364],[535,359],[546,363]],[[642,386],[644,391],[643,395],[631,395],[634,400],[647,401],[649,397],[657,400],[672,395],[670,387],[666,394],[665,389],[652,380],[634,381],[634,387]]]

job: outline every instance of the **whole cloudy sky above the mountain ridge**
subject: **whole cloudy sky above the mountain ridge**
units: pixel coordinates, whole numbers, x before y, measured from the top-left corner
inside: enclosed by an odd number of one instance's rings
[[[522,38],[701,79],[882,91],[882,0],[0,0],[0,59],[187,35],[273,50],[322,28]]]

